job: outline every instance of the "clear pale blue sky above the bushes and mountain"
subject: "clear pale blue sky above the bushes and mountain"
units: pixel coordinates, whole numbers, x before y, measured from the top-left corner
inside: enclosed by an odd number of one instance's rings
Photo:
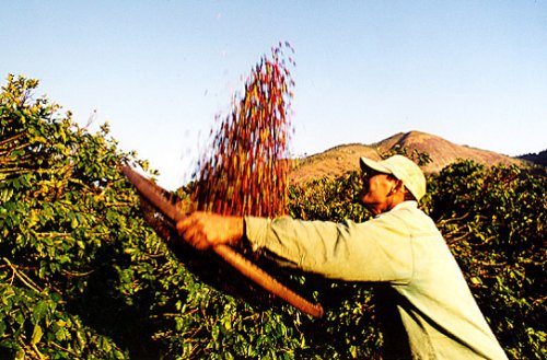
[[[0,0],[1,84],[108,121],[175,188],[279,42],[295,50],[291,152],[419,130],[547,149],[547,1]]]

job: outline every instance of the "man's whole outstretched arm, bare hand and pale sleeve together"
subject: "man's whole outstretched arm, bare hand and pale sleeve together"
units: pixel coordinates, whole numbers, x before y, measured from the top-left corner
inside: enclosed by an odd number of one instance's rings
[[[385,221],[334,223],[225,217],[194,212],[177,223],[198,249],[236,246],[243,236],[254,249],[267,248],[304,271],[349,281],[407,282],[412,271],[411,246],[400,224]],[[247,228],[245,230],[245,227]]]

